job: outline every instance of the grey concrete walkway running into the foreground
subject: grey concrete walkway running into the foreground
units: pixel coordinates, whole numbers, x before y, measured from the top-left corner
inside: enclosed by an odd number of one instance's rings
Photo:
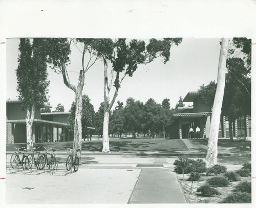
[[[141,170],[129,203],[186,203],[175,173],[166,169]]]

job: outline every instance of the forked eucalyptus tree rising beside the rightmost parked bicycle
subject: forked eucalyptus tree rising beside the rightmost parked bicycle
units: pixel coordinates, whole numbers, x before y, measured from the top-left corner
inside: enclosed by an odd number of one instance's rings
[[[70,63],[71,43],[81,53],[81,68],[77,85],[71,84],[67,66]],[[110,44],[109,44],[110,43]],[[62,74],[65,85],[75,93],[75,122],[74,122],[74,143],[73,149],[80,149],[82,142],[82,90],[84,86],[84,76],[88,70],[102,57],[109,58],[112,54],[111,39],[92,39],[92,38],[49,38],[49,57],[48,62],[51,68]]]

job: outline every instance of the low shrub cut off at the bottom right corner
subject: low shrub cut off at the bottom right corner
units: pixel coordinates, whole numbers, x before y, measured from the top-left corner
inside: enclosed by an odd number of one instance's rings
[[[234,192],[223,199],[221,203],[251,203],[251,194]]]

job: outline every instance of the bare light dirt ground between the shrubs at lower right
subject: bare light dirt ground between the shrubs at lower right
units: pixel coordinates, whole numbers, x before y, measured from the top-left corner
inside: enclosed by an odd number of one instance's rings
[[[222,176],[223,174],[218,174],[218,176]],[[222,199],[226,198],[231,192],[234,186],[236,186],[240,181],[230,182],[228,187],[217,187],[216,189],[221,193],[221,195],[216,197],[204,197],[201,196],[200,193],[197,193],[197,189],[205,183],[206,179],[212,176],[201,176],[202,181],[194,181],[193,188],[191,192],[191,181],[187,181],[190,174],[177,174],[178,179],[180,181],[181,187],[187,197],[189,203],[219,203]],[[251,177],[240,177],[242,180],[251,180]]]

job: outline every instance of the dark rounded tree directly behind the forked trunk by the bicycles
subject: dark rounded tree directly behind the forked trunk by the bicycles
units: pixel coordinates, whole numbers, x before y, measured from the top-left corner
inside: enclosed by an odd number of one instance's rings
[[[82,138],[86,138],[86,135],[89,135],[89,129],[87,127],[94,127],[94,107],[90,103],[90,98],[87,95],[82,96]],[[69,131],[74,133],[74,125],[75,125],[75,112],[76,112],[76,104],[73,102],[71,104],[71,108],[69,110],[71,112],[69,117]]]

